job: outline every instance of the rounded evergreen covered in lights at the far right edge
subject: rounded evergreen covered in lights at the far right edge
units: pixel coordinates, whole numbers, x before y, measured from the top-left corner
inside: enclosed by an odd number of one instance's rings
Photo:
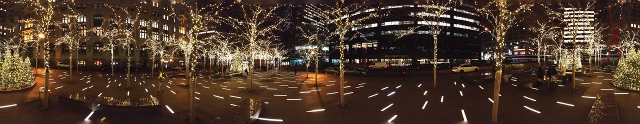
[[[620,59],[613,80],[614,86],[640,91],[640,53],[629,50],[627,57]]]

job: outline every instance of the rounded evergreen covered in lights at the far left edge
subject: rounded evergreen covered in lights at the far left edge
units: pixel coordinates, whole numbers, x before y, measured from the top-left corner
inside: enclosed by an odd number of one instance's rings
[[[21,89],[34,84],[29,59],[20,58],[20,54],[5,52],[0,64],[0,90]]]

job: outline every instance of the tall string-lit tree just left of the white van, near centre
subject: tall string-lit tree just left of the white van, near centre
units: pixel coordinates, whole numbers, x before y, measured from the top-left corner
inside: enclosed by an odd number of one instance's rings
[[[339,39],[340,107],[346,107],[344,102],[344,49],[346,49],[347,46],[344,45],[344,38],[348,37],[348,32],[351,31],[353,27],[363,26],[363,22],[380,17],[380,15],[378,13],[366,13],[370,6],[365,3],[344,3],[344,1],[337,1],[323,7],[325,7],[326,10],[318,13],[318,15],[328,19],[327,23],[335,27],[331,32],[333,35],[338,36]],[[353,13],[360,13],[362,17],[353,18]]]

